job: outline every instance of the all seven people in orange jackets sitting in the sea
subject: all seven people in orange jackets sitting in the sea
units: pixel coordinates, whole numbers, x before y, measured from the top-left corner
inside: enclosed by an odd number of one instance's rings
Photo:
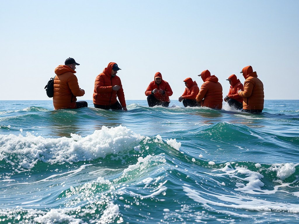
[[[76,96],[83,96],[85,91],[79,88],[76,73],[76,65],[80,65],[73,58],[65,60],[65,65],[59,65],[55,69],[53,105],[57,109],[76,109],[87,107],[87,102],[77,101]],[[104,110],[124,110],[127,111],[123,87],[120,78],[116,75],[121,70],[115,62],[110,62],[100,73],[94,82],[93,103],[95,108]],[[240,72],[245,78],[244,86],[237,79],[236,75],[228,77],[230,89],[224,101],[229,106],[249,113],[262,112],[264,108],[264,88],[263,83],[257,78],[257,73],[251,66],[244,67]],[[185,107],[209,107],[213,109],[222,108],[222,86],[218,78],[211,75],[209,70],[204,70],[201,74],[204,82],[199,89],[196,81],[192,78],[184,80],[185,91],[179,97]],[[155,73],[154,81],[149,83],[145,90],[149,107],[161,105],[168,107],[169,96],[173,91],[168,82],[162,79],[160,72]],[[117,100],[118,98],[118,100]]]

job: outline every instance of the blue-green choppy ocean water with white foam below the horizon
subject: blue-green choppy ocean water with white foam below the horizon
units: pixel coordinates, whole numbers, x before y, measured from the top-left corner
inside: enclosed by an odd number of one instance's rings
[[[299,100],[0,103],[1,224],[299,223]]]

